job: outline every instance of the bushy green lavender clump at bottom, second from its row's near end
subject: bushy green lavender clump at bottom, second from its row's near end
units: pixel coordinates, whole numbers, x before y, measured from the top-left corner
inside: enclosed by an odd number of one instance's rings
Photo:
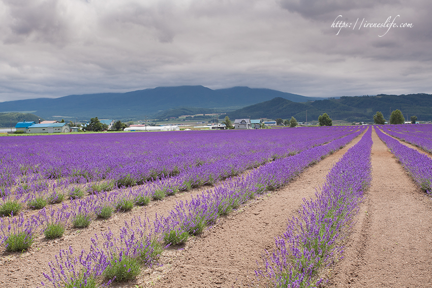
[[[125,282],[135,279],[140,273],[138,261],[132,257],[124,256],[114,258],[104,271],[104,276],[117,282]]]

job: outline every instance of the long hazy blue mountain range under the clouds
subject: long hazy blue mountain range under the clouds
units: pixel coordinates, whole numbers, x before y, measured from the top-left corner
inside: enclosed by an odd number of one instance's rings
[[[145,115],[177,107],[238,109],[248,105],[282,97],[306,102],[317,98],[271,89],[233,87],[212,90],[203,86],[157,87],[127,93],[98,93],[69,95],[56,99],[31,99],[0,103],[2,111],[36,111],[46,119],[64,118],[66,121],[92,117],[109,119],[143,119]],[[54,117],[57,116],[57,117]]]

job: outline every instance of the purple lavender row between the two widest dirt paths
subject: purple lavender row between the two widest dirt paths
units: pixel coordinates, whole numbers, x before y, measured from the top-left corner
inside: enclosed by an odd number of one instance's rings
[[[316,287],[321,268],[340,257],[363,190],[371,181],[372,129],[336,163],[316,200],[304,201],[299,215],[288,221],[287,231],[266,251],[260,282],[274,287]]]

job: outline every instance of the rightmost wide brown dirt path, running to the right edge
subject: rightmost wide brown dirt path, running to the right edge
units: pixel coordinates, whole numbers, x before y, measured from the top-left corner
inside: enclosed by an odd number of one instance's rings
[[[432,287],[432,200],[372,140],[371,187],[328,286]]]

